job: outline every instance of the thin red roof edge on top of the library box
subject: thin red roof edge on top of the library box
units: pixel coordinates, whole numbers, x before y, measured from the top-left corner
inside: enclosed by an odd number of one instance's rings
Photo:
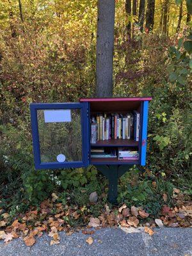
[[[152,97],[133,97],[133,98],[81,98],[80,102],[94,102],[94,101],[150,101]]]

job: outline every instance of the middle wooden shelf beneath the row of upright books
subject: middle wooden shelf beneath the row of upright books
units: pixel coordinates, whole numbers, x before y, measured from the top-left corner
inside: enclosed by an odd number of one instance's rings
[[[138,147],[138,145],[139,141],[123,139],[99,140],[91,144],[92,147]]]

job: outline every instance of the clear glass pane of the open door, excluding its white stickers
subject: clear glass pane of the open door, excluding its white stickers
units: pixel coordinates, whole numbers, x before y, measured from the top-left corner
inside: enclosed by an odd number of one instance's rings
[[[81,110],[70,111],[71,122],[45,122],[44,109],[37,110],[41,163],[58,162],[60,154],[65,162],[82,161]]]

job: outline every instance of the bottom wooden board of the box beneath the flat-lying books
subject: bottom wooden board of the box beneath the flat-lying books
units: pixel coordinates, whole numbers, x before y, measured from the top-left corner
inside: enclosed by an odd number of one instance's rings
[[[91,164],[139,164],[139,160],[119,160],[117,157],[91,158]]]

